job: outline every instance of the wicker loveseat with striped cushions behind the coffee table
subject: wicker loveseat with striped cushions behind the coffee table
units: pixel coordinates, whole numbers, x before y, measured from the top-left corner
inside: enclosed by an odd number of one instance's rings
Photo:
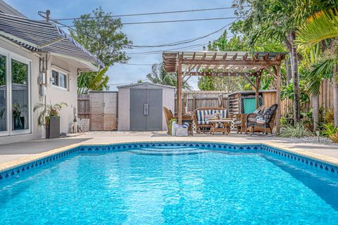
[[[212,117],[213,115],[219,114],[220,117],[227,117],[227,110],[225,108],[217,108],[217,107],[203,107],[196,108],[194,110],[194,123],[196,126],[196,132],[200,133],[201,131],[208,131],[207,129],[211,128],[211,124],[209,124],[208,117]]]

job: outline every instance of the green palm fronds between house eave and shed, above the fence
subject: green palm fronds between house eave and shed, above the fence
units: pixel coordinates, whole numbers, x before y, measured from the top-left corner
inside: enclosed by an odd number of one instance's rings
[[[109,89],[109,77],[106,74],[107,68],[99,70],[99,72],[82,72],[77,77],[77,94],[87,94],[88,91],[102,91]]]

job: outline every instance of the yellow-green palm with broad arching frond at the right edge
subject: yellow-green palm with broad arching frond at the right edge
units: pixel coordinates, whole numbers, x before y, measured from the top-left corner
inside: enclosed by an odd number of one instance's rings
[[[338,16],[337,10],[320,11],[306,20],[300,27],[299,45],[312,49],[315,44],[325,39],[332,39],[329,53],[313,70],[313,77],[332,77],[334,125],[338,127],[338,54],[337,44],[334,39],[338,37]],[[318,84],[313,85],[318,86]]]

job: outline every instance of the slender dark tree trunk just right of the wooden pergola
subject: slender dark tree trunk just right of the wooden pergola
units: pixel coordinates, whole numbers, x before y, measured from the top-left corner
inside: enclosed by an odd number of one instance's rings
[[[294,45],[294,39],[296,39],[295,32],[289,32],[287,34],[287,39],[291,44],[291,70],[292,70],[292,82],[294,84],[294,101],[293,101],[293,108],[294,108],[294,121],[299,122],[301,119],[301,103],[300,103],[300,91],[299,91],[299,73],[298,73],[298,56],[297,56],[297,49]]]

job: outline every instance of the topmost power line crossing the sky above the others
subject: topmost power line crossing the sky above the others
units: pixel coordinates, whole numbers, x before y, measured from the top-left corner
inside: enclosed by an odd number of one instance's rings
[[[249,6],[243,6],[244,8]],[[138,16],[138,15],[158,15],[158,14],[170,14],[170,13],[191,13],[191,12],[199,12],[199,11],[216,11],[216,10],[223,10],[223,9],[230,9],[230,8],[237,8],[237,7],[220,7],[220,8],[199,8],[199,9],[191,9],[191,10],[181,10],[181,11],[163,11],[163,12],[154,12],[154,13],[134,13],[134,14],[121,14],[121,15],[108,15],[108,17],[128,17],[128,16]],[[92,18],[104,18],[105,16],[91,16],[87,19]],[[79,20],[82,18],[60,18],[55,20]]]

